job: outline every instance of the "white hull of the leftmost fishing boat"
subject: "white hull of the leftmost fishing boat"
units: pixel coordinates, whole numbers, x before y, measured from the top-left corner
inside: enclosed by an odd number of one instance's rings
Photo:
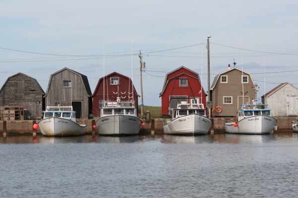
[[[40,132],[44,136],[79,136],[85,134],[86,125],[58,117],[41,119],[38,123]]]

